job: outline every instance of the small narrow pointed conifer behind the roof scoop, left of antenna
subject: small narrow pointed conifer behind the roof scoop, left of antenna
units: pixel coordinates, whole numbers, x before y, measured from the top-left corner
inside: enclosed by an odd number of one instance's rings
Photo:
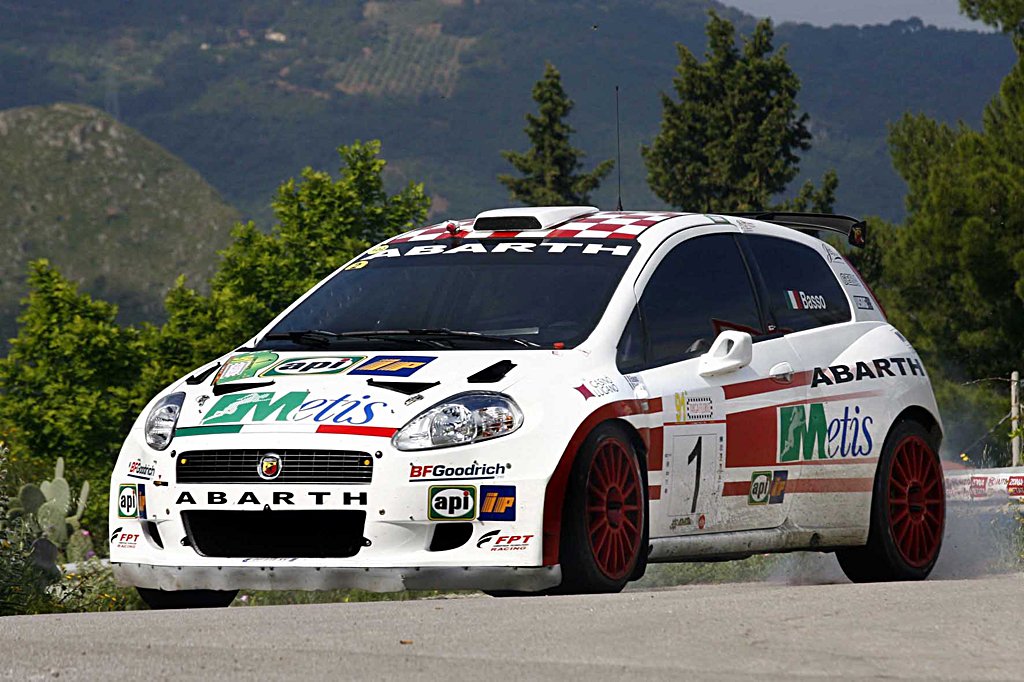
[[[590,193],[601,184],[615,162],[602,161],[589,173],[580,173],[586,155],[569,143],[575,132],[565,122],[572,100],[562,88],[562,77],[551,62],[534,86],[538,114],[526,115],[526,136],[530,148],[525,154],[502,152],[522,177],[499,175],[513,201],[527,206],[575,206],[590,203]]]

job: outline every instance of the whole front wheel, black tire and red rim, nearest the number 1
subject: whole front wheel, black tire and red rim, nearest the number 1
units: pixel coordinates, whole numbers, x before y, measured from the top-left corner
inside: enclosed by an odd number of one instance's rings
[[[617,463],[615,481],[601,478],[611,474],[609,462]],[[555,591],[622,591],[643,572],[646,539],[646,478],[637,447],[622,426],[601,424],[587,436],[572,463],[562,509],[562,584]],[[618,550],[609,553],[609,543],[617,543]]]

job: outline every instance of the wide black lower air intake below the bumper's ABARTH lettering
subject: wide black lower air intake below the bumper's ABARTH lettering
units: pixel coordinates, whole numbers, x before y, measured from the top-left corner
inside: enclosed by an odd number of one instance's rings
[[[364,547],[362,511],[181,512],[189,545],[203,556],[345,558]]]

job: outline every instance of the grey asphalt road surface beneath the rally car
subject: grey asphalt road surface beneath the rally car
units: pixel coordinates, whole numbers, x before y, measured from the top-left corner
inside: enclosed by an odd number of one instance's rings
[[[1024,576],[0,619],[0,679],[1020,680]]]

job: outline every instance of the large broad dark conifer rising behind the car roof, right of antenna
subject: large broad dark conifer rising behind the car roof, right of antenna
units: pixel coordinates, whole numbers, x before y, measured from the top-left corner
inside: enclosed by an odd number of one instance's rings
[[[774,50],[771,22],[758,23],[736,46],[733,25],[711,11],[703,62],[677,44],[673,87],[662,94],[662,128],[641,153],[647,182],[666,203],[686,210],[770,208],[799,171],[798,152],[810,148],[807,114],[797,114],[800,80]],[[793,206],[830,209],[838,178],[820,190],[806,185]]]

